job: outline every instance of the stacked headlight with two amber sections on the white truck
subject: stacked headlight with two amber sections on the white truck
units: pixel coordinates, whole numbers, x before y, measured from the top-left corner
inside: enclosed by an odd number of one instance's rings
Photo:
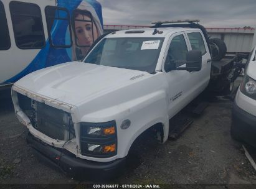
[[[116,155],[115,121],[101,123],[81,122],[80,144],[82,155],[90,157],[111,157]]]

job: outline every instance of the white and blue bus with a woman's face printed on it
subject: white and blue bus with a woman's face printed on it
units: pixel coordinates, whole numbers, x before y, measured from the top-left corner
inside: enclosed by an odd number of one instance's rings
[[[0,90],[32,71],[81,60],[103,34],[95,0],[0,1],[0,20]]]

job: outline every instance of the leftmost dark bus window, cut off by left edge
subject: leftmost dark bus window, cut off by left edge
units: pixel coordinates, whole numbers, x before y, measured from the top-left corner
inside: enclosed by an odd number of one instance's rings
[[[9,36],[9,30],[6,20],[6,12],[4,11],[4,5],[0,1],[0,21],[1,29],[0,29],[0,50],[7,50],[11,47],[11,41]]]

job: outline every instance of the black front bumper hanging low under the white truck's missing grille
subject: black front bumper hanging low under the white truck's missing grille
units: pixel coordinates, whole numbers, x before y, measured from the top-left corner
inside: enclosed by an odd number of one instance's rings
[[[82,180],[105,180],[116,177],[125,166],[125,158],[117,159],[112,162],[93,162],[90,160],[79,159],[65,149],[52,147],[40,141],[32,134],[27,134],[27,143],[44,162],[52,167],[60,168],[70,177]]]

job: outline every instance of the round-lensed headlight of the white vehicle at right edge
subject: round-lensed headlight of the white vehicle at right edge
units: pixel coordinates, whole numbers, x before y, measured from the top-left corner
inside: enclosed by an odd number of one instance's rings
[[[248,75],[245,75],[240,85],[240,91],[246,96],[256,99],[256,81]]]

